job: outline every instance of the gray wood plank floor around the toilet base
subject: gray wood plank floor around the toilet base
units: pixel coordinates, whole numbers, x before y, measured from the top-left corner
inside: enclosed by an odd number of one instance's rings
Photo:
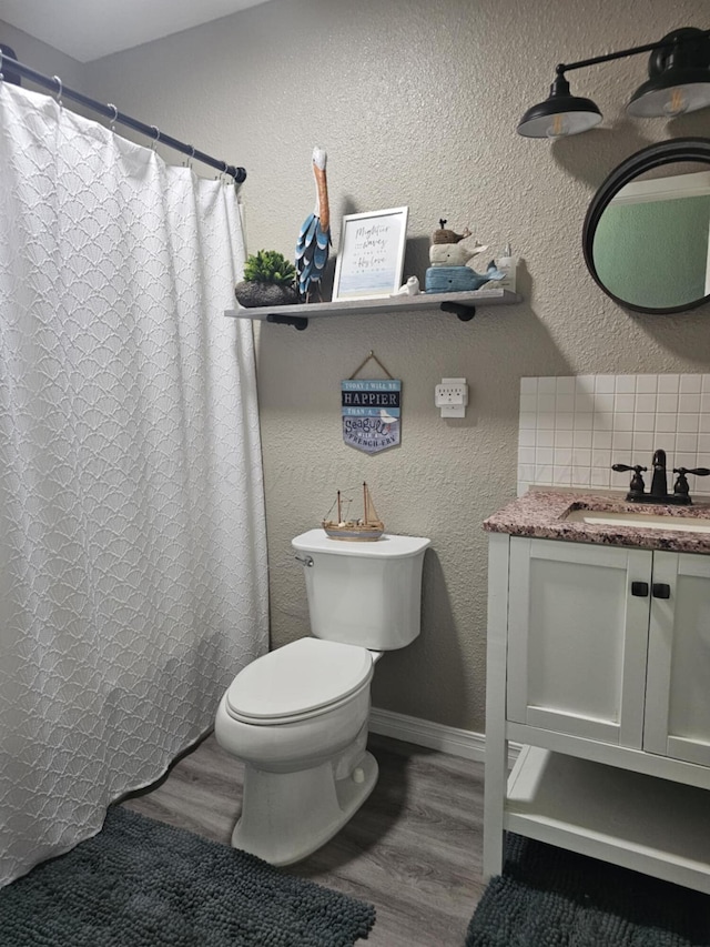
[[[484,889],[483,764],[381,736],[369,749],[379,779],[367,802],[323,848],[282,870],[374,904],[368,947],[460,947]],[[242,773],[211,735],[121,805],[229,843]]]

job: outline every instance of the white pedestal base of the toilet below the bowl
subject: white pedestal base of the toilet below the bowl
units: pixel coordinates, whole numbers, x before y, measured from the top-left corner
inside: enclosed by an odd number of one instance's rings
[[[335,767],[327,760],[297,773],[266,773],[247,763],[234,848],[293,865],[333,838],[375,788],[378,773],[367,750],[344,778],[335,778]]]

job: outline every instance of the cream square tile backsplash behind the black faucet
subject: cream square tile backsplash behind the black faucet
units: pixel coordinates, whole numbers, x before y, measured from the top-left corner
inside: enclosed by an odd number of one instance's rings
[[[710,467],[709,375],[575,375],[520,379],[518,495],[529,486],[626,490],[611,464]],[[645,475],[647,488],[650,470]],[[710,476],[689,476],[690,494],[710,495]]]

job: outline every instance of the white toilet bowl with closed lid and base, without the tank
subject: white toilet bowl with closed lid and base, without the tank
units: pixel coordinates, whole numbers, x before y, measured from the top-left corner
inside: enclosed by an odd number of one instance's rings
[[[374,659],[366,648],[301,638],[234,678],[215,718],[220,745],[244,762],[232,845],[272,865],[332,838],[377,782],[366,750]]]

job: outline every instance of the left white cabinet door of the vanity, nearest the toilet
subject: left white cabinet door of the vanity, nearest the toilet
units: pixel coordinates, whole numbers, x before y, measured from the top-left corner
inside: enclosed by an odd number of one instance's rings
[[[652,554],[511,537],[508,719],[640,748]]]

